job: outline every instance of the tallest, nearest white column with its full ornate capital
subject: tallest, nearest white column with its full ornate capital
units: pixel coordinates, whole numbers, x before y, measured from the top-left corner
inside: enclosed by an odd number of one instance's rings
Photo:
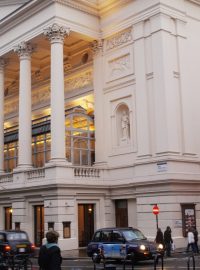
[[[51,162],[66,161],[63,43],[69,29],[57,24],[44,30],[51,42]]]

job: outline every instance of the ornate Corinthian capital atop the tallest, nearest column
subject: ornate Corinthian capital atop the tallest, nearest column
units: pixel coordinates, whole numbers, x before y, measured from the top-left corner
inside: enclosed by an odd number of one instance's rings
[[[47,38],[51,42],[62,42],[65,36],[69,36],[69,34],[70,34],[69,28],[60,26],[57,23],[54,23],[53,25],[44,29],[44,35],[47,36]]]

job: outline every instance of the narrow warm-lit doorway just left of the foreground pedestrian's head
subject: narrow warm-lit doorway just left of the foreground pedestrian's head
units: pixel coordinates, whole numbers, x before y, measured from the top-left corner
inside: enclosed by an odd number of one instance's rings
[[[44,206],[34,206],[34,241],[36,247],[42,245],[44,238]]]

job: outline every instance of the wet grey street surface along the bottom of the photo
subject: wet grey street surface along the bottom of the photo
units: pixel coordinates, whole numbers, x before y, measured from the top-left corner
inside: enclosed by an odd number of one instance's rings
[[[186,254],[183,254],[182,256],[178,257],[171,257],[171,258],[164,258],[164,267],[163,270],[177,270],[177,269],[188,269],[187,267],[188,262],[188,256]],[[116,270],[123,270],[123,264],[122,263],[113,263],[116,266]],[[33,270],[39,269],[37,266],[37,260],[33,259]],[[64,259],[62,263],[62,269],[63,270],[88,270],[94,269],[94,264],[89,258],[83,258],[83,259]],[[103,264],[97,264],[96,270],[103,269]],[[131,270],[131,264],[126,264],[125,270]],[[149,270],[154,269],[153,261],[144,261],[144,262],[138,262],[134,268],[134,270]],[[157,270],[161,270],[161,262],[156,267]],[[189,269],[200,269],[200,256],[195,256],[195,268],[193,268],[192,264],[192,258],[190,260],[190,268]]]

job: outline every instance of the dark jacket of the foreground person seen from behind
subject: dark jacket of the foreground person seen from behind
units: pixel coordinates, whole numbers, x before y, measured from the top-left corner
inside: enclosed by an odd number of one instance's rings
[[[38,264],[41,270],[61,270],[60,248],[55,245],[43,245],[39,251]]]

